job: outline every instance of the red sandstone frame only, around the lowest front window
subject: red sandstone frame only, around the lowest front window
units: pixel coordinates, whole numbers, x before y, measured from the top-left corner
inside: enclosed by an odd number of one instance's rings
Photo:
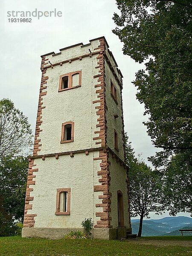
[[[62,192],[67,193],[67,201],[66,201],[67,211],[66,212],[60,211],[60,202],[61,202],[61,193]],[[70,188],[57,189],[55,215],[70,215],[70,201],[71,201],[71,189]]]

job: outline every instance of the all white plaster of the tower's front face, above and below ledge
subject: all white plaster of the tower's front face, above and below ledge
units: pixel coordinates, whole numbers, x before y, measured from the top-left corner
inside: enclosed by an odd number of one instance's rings
[[[93,52],[99,44],[99,40],[92,41],[90,45],[65,49],[59,55],[48,55],[46,58],[54,64],[90,53],[88,49]],[[41,139],[42,146],[38,155],[98,147],[93,140],[93,137],[98,136],[94,131],[99,130],[96,128],[99,116],[96,115],[95,109],[99,103],[93,104],[93,101],[98,100],[98,88],[94,87],[98,81],[97,78],[93,79],[94,75],[99,74],[99,69],[95,68],[98,65],[97,56],[88,56],[47,69],[44,76],[49,79],[47,89],[44,90],[47,95],[43,96],[45,108],[42,109],[42,131],[37,138]],[[78,70],[82,73],[81,87],[58,92],[59,76]],[[74,142],[61,144],[61,125],[67,121],[74,122]],[[99,157],[99,152],[89,152],[88,156],[84,152],[74,154],[74,157],[62,155],[58,160],[54,156],[45,157],[44,161],[41,158],[35,159],[34,168],[39,171],[35,172],[35,185],[29,186],[34,189],[30,193],[34,200],[32,209],[27,212],[37,214],[35,227],[79,227],[84,218],[90,217],[96,224],[100,218],[95,217],[95,212],[102,209],[96,208],[95,205],[101,204],[102,199],[98,199],[101,192],[93,192],[93,187],[100,185],[98,179],[101,176],[97,175],[97,171],[101,169],[101,160],[94,161],[93,157]],[[55,215],[58,188],[71,189],[70,215]]]

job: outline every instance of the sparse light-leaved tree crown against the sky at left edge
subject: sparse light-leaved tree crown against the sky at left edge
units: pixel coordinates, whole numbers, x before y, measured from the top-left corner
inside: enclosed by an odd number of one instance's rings
[[[32,145],[27,118],[9,99],[0,100],[0,159],[15,156]]]

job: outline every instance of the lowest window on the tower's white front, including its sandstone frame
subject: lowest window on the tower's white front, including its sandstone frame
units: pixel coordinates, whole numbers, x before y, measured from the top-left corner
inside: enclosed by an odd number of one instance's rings
[[[70,215],[71,189],[57,189],[55,215]]]

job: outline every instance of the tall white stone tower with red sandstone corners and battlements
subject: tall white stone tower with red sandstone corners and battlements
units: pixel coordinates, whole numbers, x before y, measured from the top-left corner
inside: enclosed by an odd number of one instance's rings
[[[122,74],[104,37],[41,56],[23,237],[60,238],[93,220],[93,238],[131,230]]]

